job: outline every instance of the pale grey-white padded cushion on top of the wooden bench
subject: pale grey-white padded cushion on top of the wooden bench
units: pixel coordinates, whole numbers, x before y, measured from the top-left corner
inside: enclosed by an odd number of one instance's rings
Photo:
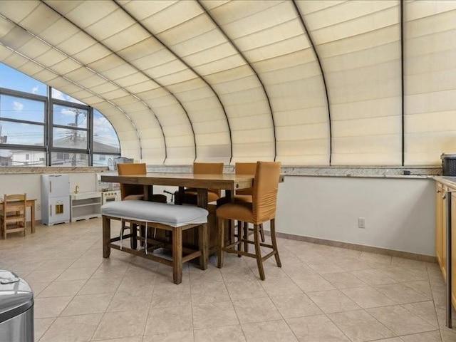
[[[207,210],[190,206],[139,200],[109,202],[101,207],[101,214],[120,219],[157,222],[170,227],[207,222]]]

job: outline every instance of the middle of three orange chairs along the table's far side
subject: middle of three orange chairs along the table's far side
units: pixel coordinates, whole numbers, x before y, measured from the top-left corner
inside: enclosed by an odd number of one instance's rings
[[[194,162],[194,175],[222,175],[223,162]],[[214,202],[220,198],[220,190],[208,189],[207,202]],[[197,190],[188,187],[182,191],[175,192],[175,204],[197,204]]]

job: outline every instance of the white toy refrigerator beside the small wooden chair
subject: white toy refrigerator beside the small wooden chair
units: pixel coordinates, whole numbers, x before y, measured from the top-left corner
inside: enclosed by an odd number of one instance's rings
[[[48,226],[70,222],[68,175],[41,175],[41,222]]]

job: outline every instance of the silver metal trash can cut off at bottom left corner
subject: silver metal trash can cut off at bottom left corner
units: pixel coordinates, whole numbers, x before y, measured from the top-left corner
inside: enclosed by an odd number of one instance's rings
[[[33,291],[24,279],[0,269],[0,342],[33,338]]]

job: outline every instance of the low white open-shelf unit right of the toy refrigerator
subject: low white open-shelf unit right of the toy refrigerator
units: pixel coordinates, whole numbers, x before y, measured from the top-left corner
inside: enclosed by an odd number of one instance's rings
[[[101,192],[71,194],[71,222],[101,216]]]

